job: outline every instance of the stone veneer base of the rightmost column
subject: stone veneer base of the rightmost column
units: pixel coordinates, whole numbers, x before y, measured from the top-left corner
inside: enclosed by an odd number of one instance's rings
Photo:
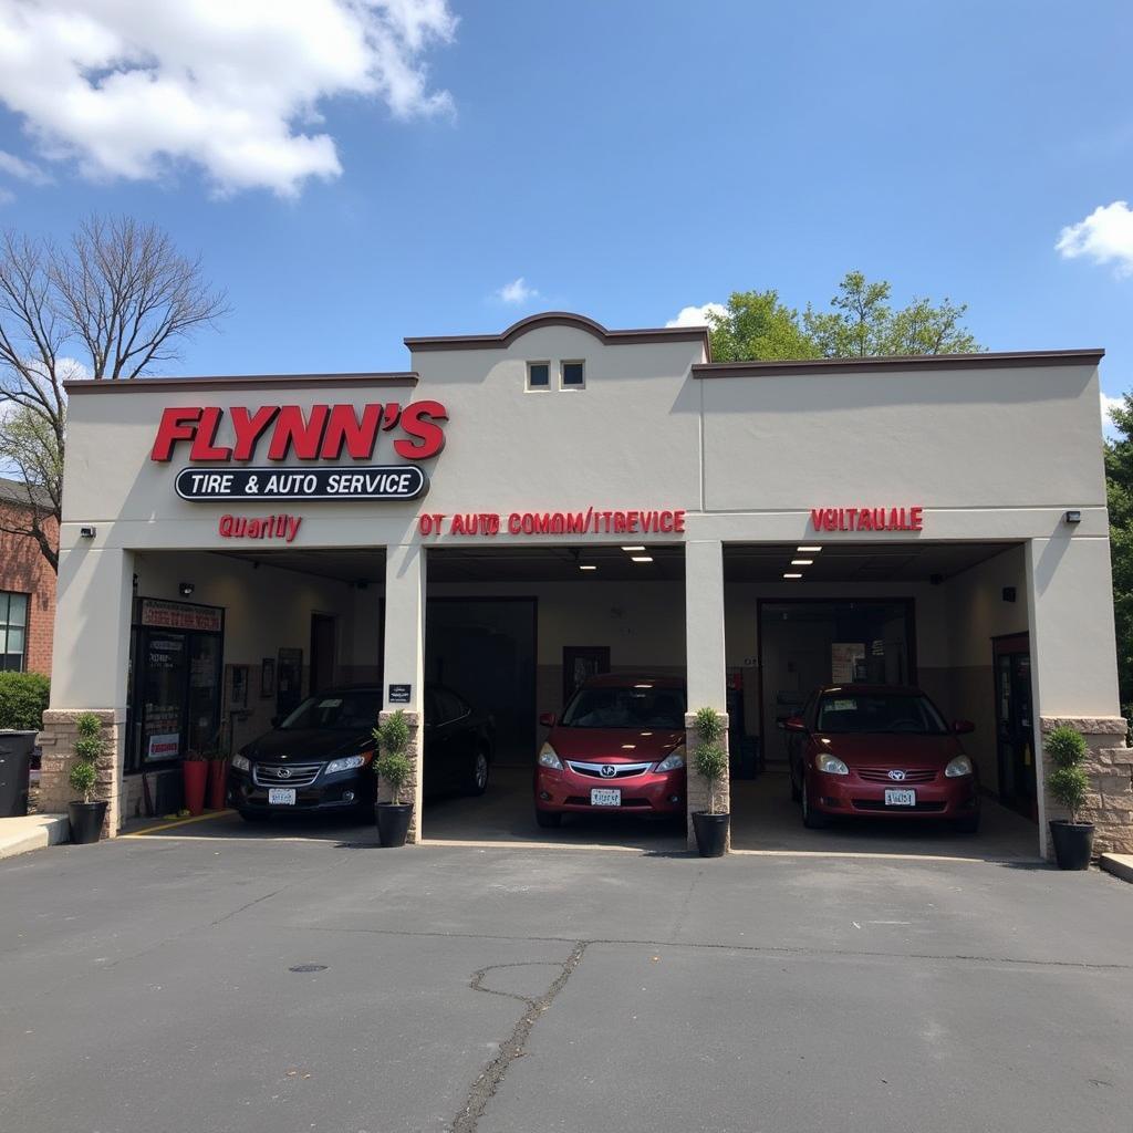
[[[1094,854],[1133,853],[1133,748],[1125,742],[1127,724],[1121,716],[1042,716],[1042,734],[1066,724],[1081,732],[1090,748],[1085,773],[1090,777],[1090,793],[1079,819],[1093,823]],[[1049,780],[1054,765],[1042,755],[1043,782]],[[1068,818],[1047,793],[1047,820]],[[1047,846],[1047,858],[1054,860],[1054,850]]]

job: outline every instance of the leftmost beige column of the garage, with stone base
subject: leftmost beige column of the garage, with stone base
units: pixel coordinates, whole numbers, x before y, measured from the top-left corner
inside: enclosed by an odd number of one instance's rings
[[[129,668],[134,555],[119,548],[77,545],[59,555],[51,707],[43,714],[40,808],[63,811],[75,798],[67,782],[74,757],[75,719],[94,712],[103,722],[108,753],[99,767],[95,798],[105,799],[103,834],[118,833],[126,758],[126,683]]]

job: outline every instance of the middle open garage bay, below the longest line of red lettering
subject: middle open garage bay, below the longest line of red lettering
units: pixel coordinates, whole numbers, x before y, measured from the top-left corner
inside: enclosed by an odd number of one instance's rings
[[[641,740],[640,733],[650,732],[648,721],[658,718],[648,713],[665,707],[662,693],[636,688],[650,678],[674,682],[676,699],[668,707],[683,729],[683,548],[442,547],[429,548],[427,562],[427,680],[458,696],[472,717],[489,718],[494,740],[487,791],[431,792],[425,838],[683,847],[683,806],[667,821],[646,804],[627,813],[638,798],[632,777],[622,780],[620,772],[608,782],[598,777],[604,761],[627,760],[633,743],[654,739]],[[617,735],[616,750],[595,748],[576,760],[597,768],[594,783],[542,800],[545,810],[568,800],[571,809],[559,825],[540,827],[535,772],[548,735],[545,721],[561,719],[579,683],[603,674],[630,690],[621,696],[611,685],[600,696],[603,722],[624,724],[627,731]],[[624,718],[615,721],[621,710]],[[636,732],[631,723],[640,724]],[[599,731],[583,734],[593,740]],[[426,765],[433,758],[427,734]],[[650,768],[656,763],[639,761]],[[591,807],[591,791],[616,795],[619,807]]]

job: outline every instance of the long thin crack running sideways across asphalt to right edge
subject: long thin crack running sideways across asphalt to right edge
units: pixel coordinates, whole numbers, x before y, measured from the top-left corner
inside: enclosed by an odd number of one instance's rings
[[[1101,964],[1091,963],[1085,960],[1030,960],[1025,956],[982,956],[976,953],[964,952],[883,952],[870,948],[808,948],[801,945],[770,945],[770,944],[716,944],[705,940],[645,940],[636,937],[595,937],[587,940],[577,940],[570,936],[501,936],[495,932],[437,932],[400,928],[339,928],[326,925],[288,925],[288,929],[299,932],[360,932],[373,934],[375,936],[404,936],[409,938],[421,937],[440,938],[442,940],[517,940],[529,944],[580,944],[589,946],[591,944],[615,944],[615,945],[640,945],[649,948],[705,948],[717,952],[746,952],[752,955],[768,956],[817,956],[838,957],[852,960],[864,957],[870,960],[938,960],[938,961],[962,961],[972,964],[1019,964],[1024,968],[1068,968],[1076,971],[1133,971],[1133,963],[1127,964]],[[508,968],[508,964],[495,965]]]

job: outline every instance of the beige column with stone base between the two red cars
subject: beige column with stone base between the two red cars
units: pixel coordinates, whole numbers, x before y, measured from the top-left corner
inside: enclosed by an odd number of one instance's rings
[[[699,738],[692,714],[715,708],[724,721],[727,748],[727,672],[724,663],[724,545],[719,539],[696,539],[684,545],[684,653],[688,671],[689,716],[685,718],[689,760],[688,844],[696,845],[692,813],[708,809],[708,784],[692,770]],[[731,807],[727,781],[716,789],[717,809]]]

